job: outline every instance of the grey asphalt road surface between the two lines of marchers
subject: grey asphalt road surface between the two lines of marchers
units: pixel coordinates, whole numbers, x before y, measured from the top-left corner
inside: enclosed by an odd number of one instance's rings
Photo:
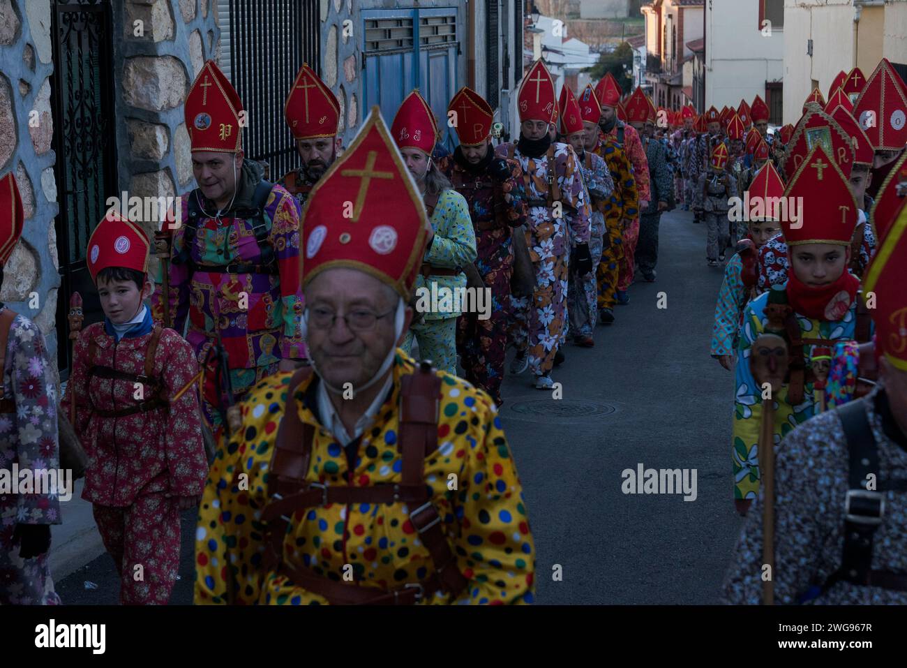
[[[540,604],[717,603],[740,520],[733,377],[708,356],[723,269],[707,267],[705,234],[688,212],[662,217],[658,280],[630,288],[630,304],[597,329],[595,348],[564,349],[552,374],[561,399],[532,388],[528,372],[504,381],[502,418],[535,538]],[[696,499],[624,494],[621,472],[640,464],[695,469]],[[191,603],[194,530],[195,512],[186,511],[171,604]],[[56,586],[65,604],[118,601],[108,555]]]

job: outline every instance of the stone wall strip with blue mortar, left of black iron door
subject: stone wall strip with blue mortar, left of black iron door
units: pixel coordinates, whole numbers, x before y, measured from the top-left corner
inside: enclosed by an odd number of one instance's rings
[[[48,78],[53,72],[50,0],[0,0],[0,174],[15,173],[25,216],[22,239],[5,266],[0,300],[38,325],[55,372],[60,274]]]

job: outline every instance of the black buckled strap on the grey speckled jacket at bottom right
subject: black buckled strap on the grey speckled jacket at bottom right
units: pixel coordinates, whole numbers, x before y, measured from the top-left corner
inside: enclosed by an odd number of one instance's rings
[[[907,592],[907,575],[873,569],[873,536],[885,514],[883,482],[866,489],[868,477],[879,475],[879,450],[866,413],[871,398],[851,401],[837,409],[847,439],[848,490],[844,499],[844,551],[841,567],[823,585],[823,592],[837,582],[876,586]]]

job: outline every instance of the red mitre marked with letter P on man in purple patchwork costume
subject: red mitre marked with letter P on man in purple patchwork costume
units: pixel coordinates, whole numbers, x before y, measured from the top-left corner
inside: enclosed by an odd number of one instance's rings
[[[241,111],[239,94],[218,65],[213,60],[202,65],[183,110],[192,152],[242,151]]]

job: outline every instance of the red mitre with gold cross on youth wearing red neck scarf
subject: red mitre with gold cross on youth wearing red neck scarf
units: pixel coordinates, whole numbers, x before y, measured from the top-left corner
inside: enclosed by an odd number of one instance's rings
[[[781,221],[788,246],[803,243],[848,245],[857,221],[857,204],[844,172],[816,142],[787,184],[785,198],[802,197],[799,220]]]

